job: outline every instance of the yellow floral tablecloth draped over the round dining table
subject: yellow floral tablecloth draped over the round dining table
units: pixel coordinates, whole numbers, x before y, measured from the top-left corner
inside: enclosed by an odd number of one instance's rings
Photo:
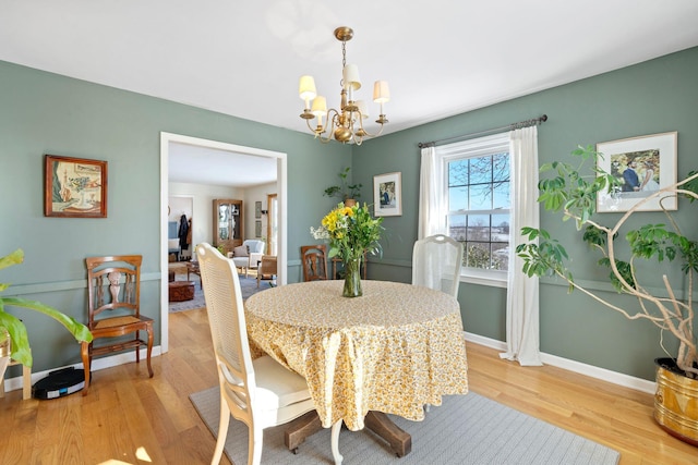
[[[253,354],[272,355],[305,377],[325,428],[363,428],[369,411],[424,418],[424,404],[468,392],[458,302],[426,287],[362,281],[289,284],[245,302]],[[263,352],[261,352],[263,351]]]

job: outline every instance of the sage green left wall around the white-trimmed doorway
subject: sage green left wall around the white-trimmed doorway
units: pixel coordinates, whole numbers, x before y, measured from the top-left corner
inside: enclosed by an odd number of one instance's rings
[[[288,154],[289,261],[298,261],[300,245],[313,241],[310,225],[334,205],[317,180],[351,163],[349,146],[7,62],[0,88],[0,254],[25,252],[23,265],[0,271],[0,282],[13,284],[5,294],[85,321],[85,257],[142,254],[142,306],[156,319],[156,344],[167,305],[159,301],[160,132]],[[44,217],[45,154],[109,163],[108,218]],[[34,371],[80,362],[79,345],[58,323],[11,311],[27,323]]]

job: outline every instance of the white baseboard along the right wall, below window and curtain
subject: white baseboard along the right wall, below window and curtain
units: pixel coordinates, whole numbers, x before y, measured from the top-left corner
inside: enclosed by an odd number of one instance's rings
[[[506,344],[502,341],[484,338],[482,335],[473,334],[470,332],[466,332],[465,334],[466,341],[495,348],[502,352],[506,351]],[[649,394],[654,394],[657,392],[657,383],[654,381],[648,381],[642,378],[636,378],[616,371],[611,371],[605,368],[594,367],[593,365],[582,364],[580,362],[570,360],[567,358],[558,357],[556,355],[541,353],[541,362],[554,367],[564,368],[566,370],[577,372],[579,375],[597,378],[602,381],[623,386],[625,388],[635,389],[636,391],[647,392]]]

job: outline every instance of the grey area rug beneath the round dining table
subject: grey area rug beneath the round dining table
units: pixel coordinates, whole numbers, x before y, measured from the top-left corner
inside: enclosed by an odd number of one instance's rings
[[[190,395],[214,437],[218,431],[218,387]],[[432,407],[423,421],[390,415],[412,437],[412,452],[398,458],[383,439],[370,430],[339,435],[339,452],[346,464],[617,464],[613,449],[557,428],[514,408],[470,392],[449,395]],[[334,464],[329,429],[308,438],[293,455],[284,445],[285,425],[264,430],[263,464]],[[236,465],[248,462],[248,428],[230,419],[226,455]],[[213,448],[210,450],[213,454]]]

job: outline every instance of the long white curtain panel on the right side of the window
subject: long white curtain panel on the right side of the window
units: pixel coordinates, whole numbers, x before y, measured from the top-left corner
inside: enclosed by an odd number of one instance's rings
[[[524,260],[516,246],[525,241],[522,227],[539,228],[538,205],[538,129],[515,130],[509,133],[512,166],[512,258],[506,296],[506,344],[502,358],[517,360],[521,366],[543,365],[540,356],[540,323],[538,277],[528,278],[522,271]]]

